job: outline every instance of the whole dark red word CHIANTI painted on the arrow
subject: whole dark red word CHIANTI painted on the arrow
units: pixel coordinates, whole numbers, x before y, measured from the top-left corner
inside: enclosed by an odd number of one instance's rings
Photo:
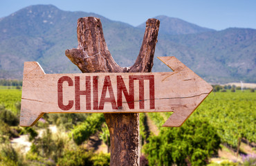
[[[105,102],[110,102],[112,109],[118,109],[122,107],[122,94],[124,94],[129,109],[134,109],[134,80],[138,80],[139,84],[139,109],[145,109],[145,85],[144,81],[149,80],[149,108],[155,109],[154,100],[154,75],[130,75],[129,76],[129,91],[125,86],[125,82],[122,75],[117,75],[117,101],[113,94],[113,87],[111,84],[110,76],[104,77],[104,84],[102,87],[102,94],[100,97],[100,104],[98,98],[98,77],[93,76],[93,109],[102,110],[104,109]],[[86,110],[91,110],[91,77],[85,76],[85,90],[80,90],[80,77],[75,76],[75,101],[68,100],[68,104],[64,105],[63,101],[63,82],[68,82],[68,86],[73,86],[73,80],[71,77],[63,76],[57,82],[57,102],[60,109],[67,111],[73,107],[75,102],[75,110],[80,110],[80,95],[86,95]],[[109,91],[109,98],[106,98],[107,91]]]

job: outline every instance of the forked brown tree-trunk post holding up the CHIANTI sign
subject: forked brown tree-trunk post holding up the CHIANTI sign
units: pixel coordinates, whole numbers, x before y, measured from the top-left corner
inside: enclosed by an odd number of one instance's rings
[[[116,64],[104,39],[100,19],[77,20],[77,48],[66,50],[66,56],[82,73],[151,72],[156,47],[158,19],[148,19],[143,44],[136,62],[130,68]],[[139,113],[104,113],[111,140],[110,165],[139,165]]]

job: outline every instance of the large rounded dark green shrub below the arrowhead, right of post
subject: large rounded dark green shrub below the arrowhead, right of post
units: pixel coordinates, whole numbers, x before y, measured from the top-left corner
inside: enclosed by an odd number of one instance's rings
[[[221,140],[205,120],[187,120],[182,127],[164,128],[149,138],[145,154],[149,165],[206,165],[217,154]]]

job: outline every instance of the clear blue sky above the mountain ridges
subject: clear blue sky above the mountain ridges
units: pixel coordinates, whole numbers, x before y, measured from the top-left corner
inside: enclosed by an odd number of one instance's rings
[[[52,4],[66,11],[94,12],[131,26],[166,15],[215,30],[256,29],[256,0],[0,0],[0,18],[37,4]]]

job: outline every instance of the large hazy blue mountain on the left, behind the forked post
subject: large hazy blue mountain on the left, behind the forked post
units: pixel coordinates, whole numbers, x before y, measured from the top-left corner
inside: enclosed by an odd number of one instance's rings
[[[0,77],[21,78],[25,61],[39,62],[46,73],[80,72],[64,51],[77,47],[77,19],[89,16],[101,19],[109,49],[118,55],[120,64],[131,65],[139,47],[131,59],[126,59],[127,55],[140,45],[143,30],[93,13],[39,5],[21,9],[0,21]]]

